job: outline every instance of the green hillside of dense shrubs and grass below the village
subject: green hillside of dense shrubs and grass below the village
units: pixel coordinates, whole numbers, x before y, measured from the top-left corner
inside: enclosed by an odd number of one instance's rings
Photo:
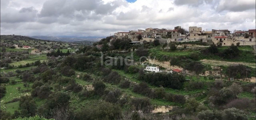
[[[96,44],[109,41],[110,37],[107,37]],[[33,59],[33,65],[1,69],[1,120],[255,119],[255,83],[237,81],[238,78],[255,77],[251,67],[222,66],[222,75],[230,75],[235,81],[227,81],[225,77],[217,80],[211,74],[198,75],[209,70],[219,71],[202,63],[202,55],[230,60],[219,55],[220,52],[233,56],[238,52],[236,59],[239,59],[244,54],[240,50],[242,46],[218,48],[211,45],[206,50],[187,51],[189,48],[177,48],[175,44],[172,45],[176,50],[159,50],[157,40],[141,45],[130,45],[129,42],[129,39],[114,40],[114,46],[105,44],[103,49],[77,46],[78,50],[69,55],[60,55],[61,49],[56,49],[54,54],[45,57],[44,62]],[[233,51],[236,48],[238,51]],[[128,51],[118,52],[123,50]],[[114,66],[101,65],[99,51],[104,52],[103,62],[109,60],[105,58],[107,55],[125,57],[131,53],[136,62],[122,65],[124,60],[117,58],[113,59],[117,63]],[[59,57],[55,57],[55,53]],[[148,73],[144,65],[137,63],[139,57],[148,55],[155,55],[162,62],[170,61],[170,65],[195,74]],[[143,60],[145,65],[155,66],[147,60]],[[152,113],[158,107],[172,109],[165,114]]]

